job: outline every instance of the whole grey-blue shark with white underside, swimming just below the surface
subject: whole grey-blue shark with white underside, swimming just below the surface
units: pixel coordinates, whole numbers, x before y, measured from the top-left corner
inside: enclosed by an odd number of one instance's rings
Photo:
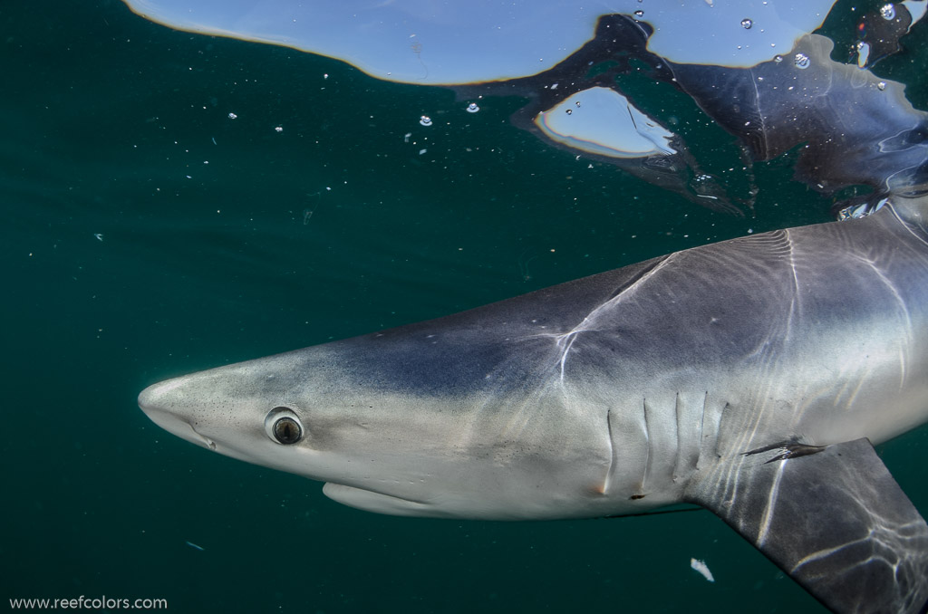
[[[838,612],[920,612],[872,445],[928,421],[925,198],[144,390],[159,426],[386,514],[703,505]]]

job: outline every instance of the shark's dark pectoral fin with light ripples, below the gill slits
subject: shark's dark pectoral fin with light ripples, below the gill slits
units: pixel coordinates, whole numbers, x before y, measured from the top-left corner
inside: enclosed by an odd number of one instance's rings
[[[928,607],[928,525],[866,439],[720,459],[687,498],[835,612]]]

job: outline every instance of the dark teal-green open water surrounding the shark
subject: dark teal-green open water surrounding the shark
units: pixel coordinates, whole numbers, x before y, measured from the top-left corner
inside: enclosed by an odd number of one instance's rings
[[[917,109],[926,25],[874,69],[909,83]],[[743,191],[734,138],[687,96],[654,96],[644,106]],[[708,511],[378,516],[138,410],[167,377],[830,220],[831,199],[793,181],[792,154],[754,165],[754,211],[738,217],[516,129],[522,102],[468,113],[445,88],[175,32],[117,0],[4,0],[2,607],[106,595],[182,612],[824,611]],[[878,451],[928,514],[928,428]]]

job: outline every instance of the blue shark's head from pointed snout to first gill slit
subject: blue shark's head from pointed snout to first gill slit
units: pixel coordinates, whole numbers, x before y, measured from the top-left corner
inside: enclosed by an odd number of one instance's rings
[[[587,423],[571,413],[568,395],[552,383],[557,377],[535,377],[534,362],[500,354],[496,335],[464,319],[176,377],[143,390],[138,403],[182,439],[326,482],[329,498],[368,511],[501,519],[607,513],[608,497],[597,492],[612,462],[605,414],[581,432]],[[539,343],[557,350],[550,340],[522,340]],[[541,372],[559,373],[556,361],[546,364]]]

